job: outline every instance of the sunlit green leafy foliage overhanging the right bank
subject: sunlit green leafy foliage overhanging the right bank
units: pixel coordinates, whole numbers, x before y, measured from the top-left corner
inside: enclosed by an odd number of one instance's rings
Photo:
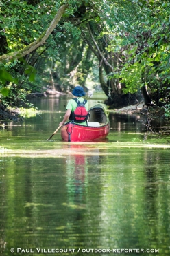
[[[130,8],[127,14],[133,12],[133,17],[130,15],[126,17],[127,21],[121,21],[124,24],[121,35],[118,31],[112,32],[113,39],[108,50],[122,54],[121,62],[111,72],[110,78],[119,79],[125,85],[125,93],[147,86],[156,105],[165,104],[169,100],[167,88],[170,82],[170,4],[162,1],[132,3],[135,10]],[[119,11],[123,8],[125,5]]]

